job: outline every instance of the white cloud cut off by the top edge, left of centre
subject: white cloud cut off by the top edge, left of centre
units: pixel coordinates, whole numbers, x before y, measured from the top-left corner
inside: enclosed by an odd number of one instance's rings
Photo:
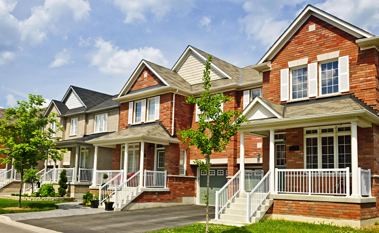
[[[162,20],[167,13],[188,14],[194,8],[194,0],[113,0],[125,15],[124,23],[146,21],[147,15]]]

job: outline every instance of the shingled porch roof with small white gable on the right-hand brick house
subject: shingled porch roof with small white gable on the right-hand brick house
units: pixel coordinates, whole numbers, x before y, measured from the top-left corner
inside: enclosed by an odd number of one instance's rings
[[[376,110],[350,94],[287,104],[274,103],[262,97],[255,98],[260,98],[266,105],[261,101],[252,100],[243,111],[244,116],[249,119],[249,124],[241,124],[239,132],[267,137],[270,129],[281,130],[353,121],[362,128],[371,127],[371,123],[379,124]],[[273,110],[277,113],[276,116],[267,114],[273,113]]]

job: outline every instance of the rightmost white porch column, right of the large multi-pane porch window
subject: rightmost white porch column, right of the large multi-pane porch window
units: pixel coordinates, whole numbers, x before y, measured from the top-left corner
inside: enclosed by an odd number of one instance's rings
[[[351,195],[359,196],[357,122],[351,122]]]

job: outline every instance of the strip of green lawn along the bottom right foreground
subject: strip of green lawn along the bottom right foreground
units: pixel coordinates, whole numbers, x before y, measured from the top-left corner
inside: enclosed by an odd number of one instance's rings
[[[337,227],[326,224],[309,224],[285,220],[266,220],[243,227],[210,224],[210,233],[379,233],[379,228],[355,230],[350,227]],[[196,233],[205,232],[205,224],[194,224],[186,227],[165,228],[155,233]]]

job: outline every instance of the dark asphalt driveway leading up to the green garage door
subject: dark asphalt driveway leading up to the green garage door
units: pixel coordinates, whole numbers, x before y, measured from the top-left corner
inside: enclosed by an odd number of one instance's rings
[[[21,220],[63,233],[145,232],[165,227],[183,227],[205,221],[205,206],[182,205],[143,210],[109,211],[88,215]],[[215,208],[209,208],[209,219],[215,218]]]

